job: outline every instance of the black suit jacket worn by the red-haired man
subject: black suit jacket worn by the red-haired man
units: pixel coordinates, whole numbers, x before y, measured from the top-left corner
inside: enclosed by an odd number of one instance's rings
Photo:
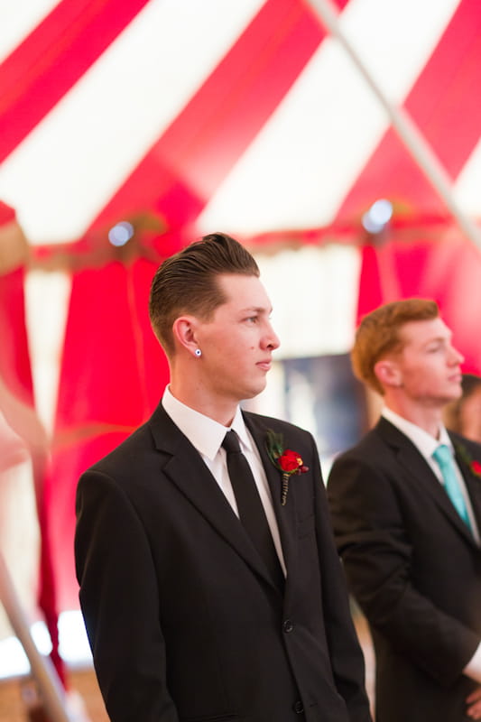
[[[481,529],[481,447],[450,434]],[[328,478],[349,586],[375,643],[379,722],[460,722],[476,683],[462,675],[481,639],[481,551],[429,464],[382,418]]]

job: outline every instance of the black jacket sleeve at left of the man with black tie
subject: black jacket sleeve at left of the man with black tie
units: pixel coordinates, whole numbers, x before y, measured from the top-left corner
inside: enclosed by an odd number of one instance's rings
[[[79,481],[77,517],[80,606],[108,715],[112,722],[178,722],[143,524],[113,479],[98,471]]]

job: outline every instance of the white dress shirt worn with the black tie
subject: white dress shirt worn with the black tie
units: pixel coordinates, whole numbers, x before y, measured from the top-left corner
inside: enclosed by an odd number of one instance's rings
[[[227,454],[226,450],[221,446],[227,431],[236,431],[240,448],[251,467],[255,485],[257,486],[261,502],[264,506],[267,523],[273,535],[274,547],[285,576],[285,561],[282,554],[279,527],[273,511],[271,490],[267,482],[259,451],[245,426],[240,407],[237,406],[234,421],[232,421],[231,426],[227,428],[209,416],[196,412],[194,409],[191,409],[190,406],[181,403],[172,396],[169,386],[165,388],[163,393],[162,406],[175,425],[190,440],[192,446],[199,451],[200,457],[203,459],[212,476],[216,479],[218,486],[222,489],[234,513],[238,516],[236,496],[234,495],[227,471]],[[195,484],[195,479],[192,479],[192,484]]]

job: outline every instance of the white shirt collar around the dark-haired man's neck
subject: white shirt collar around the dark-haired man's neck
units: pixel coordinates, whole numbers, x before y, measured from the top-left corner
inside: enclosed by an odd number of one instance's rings
[[[214,421],[214,419],[203,413],[196,412],[185,403],[181,403],[179,399],[172,396],[169,386],[166,386],[163,393],[162,406],[175,425],[190,440],[190,443],[199,451],[199,454],[204,457],[211,460],[215,458],[227,431],[230,429],[236,431],[241,446],[249,450],[253,448],[239,406],[236,408],[236,415],[230,428],[218,423],[218,421]]]

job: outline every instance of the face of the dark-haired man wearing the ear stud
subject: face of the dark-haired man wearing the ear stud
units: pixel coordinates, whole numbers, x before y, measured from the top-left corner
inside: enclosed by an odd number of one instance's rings
[[[217,399],[238,403],[264,390],[273,350],[271,303],[256,276],[226,273],[217,283],[227,301],[196,329],[201,383]]]

